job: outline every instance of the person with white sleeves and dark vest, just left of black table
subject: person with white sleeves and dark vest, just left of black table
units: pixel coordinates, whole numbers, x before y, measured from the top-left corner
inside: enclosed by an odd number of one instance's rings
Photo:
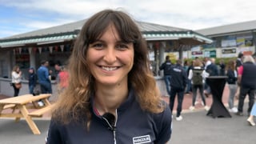
[[[199,60],[194,61],[194,68],[190,70],[189,72],[189,79],[192,82],[192,92],[193,92],[193,98],[192,98],[192,106],[190,106],[190,110],[194,110],[195,100],[197,97],[197,91],[199,90],[199,93],[202,98],[202,105],[204,106],[205,110],[209,110],[209,107],[206,106],[206,98],[203,95],[203,77],[206,75],[206,70],[202,68],[202,62]]]

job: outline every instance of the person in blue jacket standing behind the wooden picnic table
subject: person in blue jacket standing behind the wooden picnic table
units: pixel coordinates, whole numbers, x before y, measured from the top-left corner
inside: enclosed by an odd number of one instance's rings
[[[38,68],[38,83],[40,84],[41,94],[52,94],[48,66],[49,62],[46,60],[42,60],[41,66]],[[44,103],[42,101],[39,101],[38,105],[43,106]]]

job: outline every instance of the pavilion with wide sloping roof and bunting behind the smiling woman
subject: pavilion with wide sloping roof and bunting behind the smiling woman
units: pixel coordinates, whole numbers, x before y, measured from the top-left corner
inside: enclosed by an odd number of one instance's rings
[[[15,65],[20,66],[23,74],[24,91],[22,90],[20,94],[27,94],[27,71],[30,67],[37,70],[42,59],[50,62],[49,68],[53,71],[55,63],[65,64],[85,22],[86,20],[82,20],[0,39],[0,94],[12,95],[13,90],[9,82],[12,67]],[[158,73],[158,67],[164,61],[166,54],[175,52],[178,58],[182,59],[183,51],[190,50],[192,46],[212,42],[210,38],[192,30],[147,22],[137,22],[137,24],[148,43],[152,70],[159,82],[162,74]],[[54,79],[52,83],[56,87]],[[162,90],[162,93],[165,91]]]

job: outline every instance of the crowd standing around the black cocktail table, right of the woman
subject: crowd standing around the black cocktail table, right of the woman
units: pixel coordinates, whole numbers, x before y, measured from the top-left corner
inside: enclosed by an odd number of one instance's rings
[[[166,63],[170,63],[166,65]],[[183,68],[179,60],[177,64],[170,62],[169,56],[166,56],[166,62],[159,67],[164,71],[167,93],[170,96],[170,110],[173,110],[175,94],[178,96],[178,106],[176,120],[182,120],[182,99],[183,94],[192,94],[192,104],[190,110],[195,109],[198,104],[198,95],[201,96],[201,103],[205,110],[209,110],[206,105],[206,98],[211,94],[210,86],[206,82],[206,78],[210,76],[226,76],[226,83],[229,87],[228,110],[237,115],[243,115],[243,105],[248,95],[249,106],[247,121],[251,126],[255,126],[255,89],[256,89],[256,64],[255,59],[251,55],[238,54],[237,59],[230,59],[229,62],[220,60],[219,65],[215,63],[214,58],[195,58],[189,65],[184,62]],[[180,74],[177,73],[179,71]],[[186,78],[184,76],[186,74]],[[168,80],[168,81],[167,81]],[[177,92],[177,86],[179,88]],[[169,92],[170,90],[170,92]],[[235,98],[238,99],[238,107],[234,106]],[[254,115],[254,116],[253,116]]]

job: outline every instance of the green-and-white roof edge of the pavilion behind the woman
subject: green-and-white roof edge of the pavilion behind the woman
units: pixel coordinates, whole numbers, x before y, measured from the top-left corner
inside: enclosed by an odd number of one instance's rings
[[[146,31],[142,32],[146,41],[178,41],[181,45],[202,45],[213,40],[194,31]],[[0,48],[42,46],[73,40],[78,34],[51,34],[31,38],[15,38],[0,40]]]

